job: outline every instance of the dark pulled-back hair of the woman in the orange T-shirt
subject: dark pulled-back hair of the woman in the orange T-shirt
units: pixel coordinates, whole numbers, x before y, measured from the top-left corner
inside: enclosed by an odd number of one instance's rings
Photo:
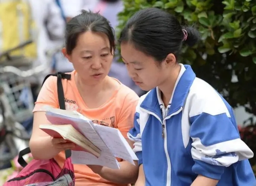
[[[67,54],[71,54],[77,45],[77,38],[80,34],[91,31],[107,35],[110,42],[110,52],[115,50],[114,29],[110,22],[99,13],[82,10],[82,13],[73,17],[66,26],[65,45]]]

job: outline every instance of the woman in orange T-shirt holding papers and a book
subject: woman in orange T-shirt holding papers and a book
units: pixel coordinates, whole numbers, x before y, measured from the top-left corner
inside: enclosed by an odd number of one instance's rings
[[[66,109],[77,110],[94,123],[118,128],[124,137],[133,126],[138,96],[118,80],[107,76],[113,59],[114,34],[107,19],[98,13],[83,11],[67,23],[65,57],[74,65],[71,80],[62,80]],[[49,124],[45,106],[59,108],[56,77],[49,77],[34,108],[30,149],[36,159],[65,161],[64,150],[74,144],[51,138],[40,124]],[[129,144],[132,142],[128,140]],[[120,161],[120,170],[101,166],[74,165],[76,186],[124,186],[138,177],[138,165]],[[89,168],[90,167],[90,168]]]

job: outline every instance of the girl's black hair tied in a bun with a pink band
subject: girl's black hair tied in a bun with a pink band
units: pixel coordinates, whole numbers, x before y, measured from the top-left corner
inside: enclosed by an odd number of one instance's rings
[[[170,53],[177,57],[183,42],[193,46],[199,40],[200,34],[192,26],[182,27],[175,16],[148,8],[136,12],[127,21],[119,42],[130,42],[139,51],[162,62]]]

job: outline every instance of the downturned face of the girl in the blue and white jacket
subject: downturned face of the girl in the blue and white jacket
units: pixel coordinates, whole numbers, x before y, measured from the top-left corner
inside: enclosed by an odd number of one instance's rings
[[[138,51],[129,42],[121,43],[121,57],[129,76],[142,90],[151,90],[167,81],[170,70],[165,62],[161,64],[151,56]]]

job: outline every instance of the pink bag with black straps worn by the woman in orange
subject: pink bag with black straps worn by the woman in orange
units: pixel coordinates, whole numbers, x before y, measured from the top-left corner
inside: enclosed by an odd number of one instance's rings
[[[71,75],[65,73],[49,74],[44,78],[44,81],[49,76],[57,76],[59,108],[65,109],[62,79],[70,80]],[[50,160],[33,159],[27,164],[22,156],[29,153],[31,153],[29,147],[19,153],[18,163],[24,168],[16,177],[8,180],[3,186],[74,186],[75,175],[71,163],[71,150],[65,151],[64,167],[59,167],[54,158]]]

